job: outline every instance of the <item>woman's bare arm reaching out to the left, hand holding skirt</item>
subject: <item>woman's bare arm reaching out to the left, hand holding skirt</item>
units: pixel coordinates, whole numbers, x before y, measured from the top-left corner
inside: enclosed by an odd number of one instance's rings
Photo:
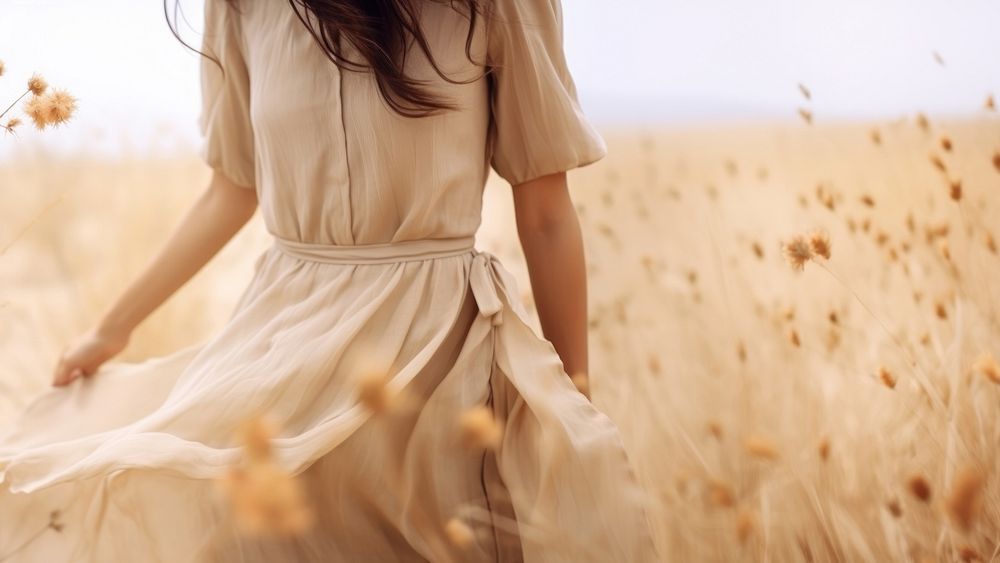
[[[208,188],[187,211],[146,269],[103,315],[98,325],[63,352],[52,384],[91,375],[121,352],[135,327],[190,280],[250,220],[255,190],[215,172]]]

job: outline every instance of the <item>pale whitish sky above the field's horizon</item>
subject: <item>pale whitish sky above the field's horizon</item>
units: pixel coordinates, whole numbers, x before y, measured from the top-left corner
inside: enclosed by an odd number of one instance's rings
[[[799,82],[813,92],[817,119],[969,114],[1000,94],[996,0],[562,3],[567,57],[598,124],[794,118]],[[197,142],[198,59],[170,35],[161,0],[0,4],[2,106],[33,71],[80,99],[71,127],[0,135],[0,155],[35,140],[98,149]],[[201,0],[182,5],[200,31]],[[186,37],[197,45],[195,31]]]

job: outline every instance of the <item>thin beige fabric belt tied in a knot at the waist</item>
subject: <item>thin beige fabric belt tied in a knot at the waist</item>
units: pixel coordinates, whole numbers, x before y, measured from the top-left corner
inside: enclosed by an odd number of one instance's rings
[[[497,271],[500,261],[489,252],[476,250],[474,236],[355,245],[316,244],[274,237],[274,246],[294,258],[324,264],[395,264],[472,253],[469,285],[479,313],[489,317],[494,326],[503,322],[500,291],[504,280]]]

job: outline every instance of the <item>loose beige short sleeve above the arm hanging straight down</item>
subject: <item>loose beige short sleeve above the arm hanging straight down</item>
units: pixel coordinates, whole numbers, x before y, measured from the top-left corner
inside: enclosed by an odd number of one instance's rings
[[[560,0],[496,0],[489,19],[494,170],[520,184],[607,155],[563,51]]]

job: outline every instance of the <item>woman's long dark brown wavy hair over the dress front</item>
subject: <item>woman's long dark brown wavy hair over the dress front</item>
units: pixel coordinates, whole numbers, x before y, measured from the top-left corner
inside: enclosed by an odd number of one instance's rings
[[[235,6],[238,0],[226,2]],[[407,117],[424,117],[443,110],[457,109],[448,100],[428,92],[425,81],[406,76],[404,68],[411,44],[416,44],[423,51],[434,71],[447,82],[467,84],[480,78],[453,80],[441,71],[430,51],[427,38],[420,29],[420,8],[428,2],[447,4],[469,19],[465,55],[472,61],[476,22],[480,17],[489,17],[489,0],[288,0],[327,58],[345,70],[373,72],[382,99],[397,113]],[[214,57],[198,51],[181,39],[177,31],[177,18],[180,14],[177,1],[174,2],[173,19],[168,0],[163,0],[163,12],[170,31],[178,41],[219,64]],[[318,26],[310,15],[315,17]],[[344,56],[339,42],[341,37],[361,53],[364,61],[352,61]]]

